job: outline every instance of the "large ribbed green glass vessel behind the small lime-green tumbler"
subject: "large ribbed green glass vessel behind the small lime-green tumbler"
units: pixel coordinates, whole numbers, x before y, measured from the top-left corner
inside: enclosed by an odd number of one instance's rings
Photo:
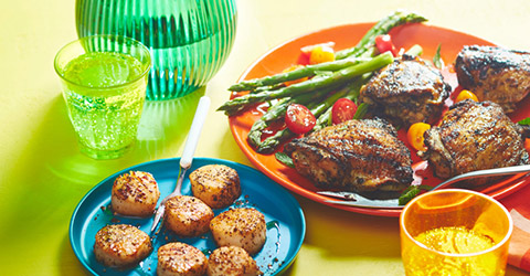
[[[117,34],[149,47],[151,100],[205,85],[232,49],[236,17],[235,0],[76,0],[80,38]]]

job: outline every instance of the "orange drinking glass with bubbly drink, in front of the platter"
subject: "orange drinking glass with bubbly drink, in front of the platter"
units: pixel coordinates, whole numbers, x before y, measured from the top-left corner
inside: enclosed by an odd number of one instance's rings
[[[400,216],[405,275],[505,275],[513,230],[492,198],[462,189],[424,193]]]

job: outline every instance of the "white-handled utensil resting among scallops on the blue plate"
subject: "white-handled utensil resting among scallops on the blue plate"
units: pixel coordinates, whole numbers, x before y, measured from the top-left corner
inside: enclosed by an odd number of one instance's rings
[[[166,212],[166,201],[173,197],[181,195],[180,190],[182,188],[182,181],[184,180],[186,171],[191,167],[191,162],[193,161],[193,153],[195,152],[199,136],[201,135],[202,126],[204,125],[204,120],[206,119],[209,107],[210,98],[208,96],[202,96],[199,99],[195,115],[193,116],[193,121],[191,123],[190,132],[188,132],[188,138],[184,144],[184,150],[182,151],[182,157],[180,158],[180,169],[177,184],[174,185],[173,192],[160,202],[160,205],[157,209],[157,213],[155,214],[155,220],[152,221],[151,233],[155,232],[158,223],[160,222],[160,219]]]

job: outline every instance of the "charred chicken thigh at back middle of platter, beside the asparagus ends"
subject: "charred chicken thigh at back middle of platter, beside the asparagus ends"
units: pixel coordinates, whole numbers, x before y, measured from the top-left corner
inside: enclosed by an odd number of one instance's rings
[[[438,70],[417,56],[404,54],[383,67],[361,88],[360,99],[393,124],[433,124],[439,118],[451,85]]]

